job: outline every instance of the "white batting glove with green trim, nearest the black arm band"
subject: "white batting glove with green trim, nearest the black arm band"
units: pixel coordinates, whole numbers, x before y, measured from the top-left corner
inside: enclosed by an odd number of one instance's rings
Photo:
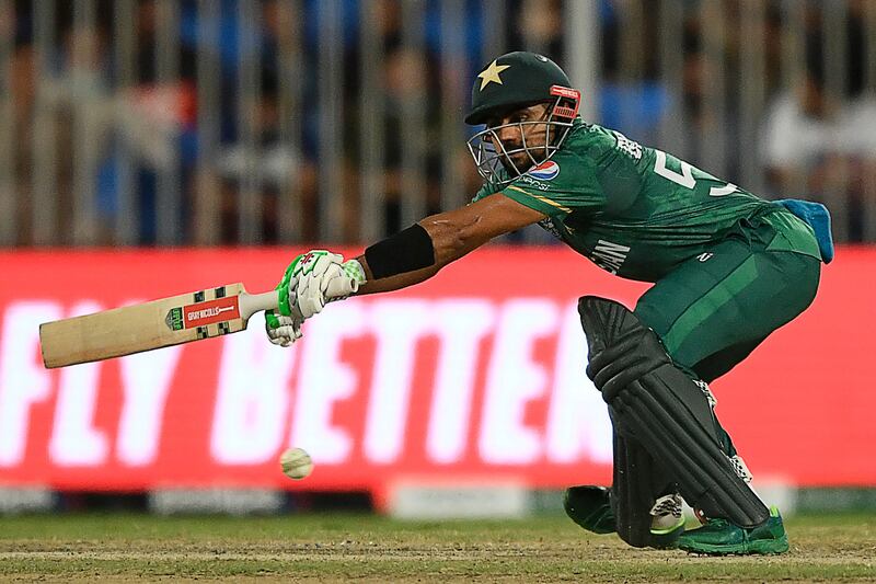
[[[312,250],[292,261],[277,286],[280,314],[303,322],[364,282],[365,271],[356,260],[344,262],[341,254]]]

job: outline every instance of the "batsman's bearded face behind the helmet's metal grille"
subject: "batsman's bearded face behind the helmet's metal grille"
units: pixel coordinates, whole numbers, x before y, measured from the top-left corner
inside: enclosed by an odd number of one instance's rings
[[[510,173],[526,172],[548,158],[544,147],[549,125],[539,122],[548,121],[550,107],[551,104],[537,103],[486,121],[486,127],[493,131],[487,133],[484,139],[492,142],[497,152],[507,152],[500,160]]]

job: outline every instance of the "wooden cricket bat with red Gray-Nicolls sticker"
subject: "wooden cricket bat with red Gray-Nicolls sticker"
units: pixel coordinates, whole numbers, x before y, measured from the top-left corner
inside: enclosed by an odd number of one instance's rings
[[[338,278],[326,297],[347,296],[357,287],[355,279]],[[247,294],[237,283],[45,322],[39,325],[43,363],[54,369],[231,334],[246,329],[254,313],[277,307],[276,290]]]

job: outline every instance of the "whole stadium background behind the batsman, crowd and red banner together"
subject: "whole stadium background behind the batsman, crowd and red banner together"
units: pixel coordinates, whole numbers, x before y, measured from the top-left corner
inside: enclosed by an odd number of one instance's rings
[[[464,204],[471,81],[516,48],[565,66],[586,119],[830,207],[815,306],[715,389],[759,489],[873,508],[875,32],[863,0],[0,0],[0,509],[520,514],[607,483],[572,308],[643,286],[538,229],[333,305],[291,351],[256,317],[39,364],[38,322],[261,291],[304,249],[355,253]],[[311,478],[279,473],[287,446]]]

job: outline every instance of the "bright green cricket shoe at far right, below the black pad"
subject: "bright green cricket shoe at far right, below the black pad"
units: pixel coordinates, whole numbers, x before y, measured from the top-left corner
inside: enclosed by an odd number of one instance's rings
[[[770,507],[770,517],[756,527],[739,527],[727,519],[705,519],[705,524],[678,538],[678,547],[690,553],[742,556],[784,553],[787,534],[779,509]]]

